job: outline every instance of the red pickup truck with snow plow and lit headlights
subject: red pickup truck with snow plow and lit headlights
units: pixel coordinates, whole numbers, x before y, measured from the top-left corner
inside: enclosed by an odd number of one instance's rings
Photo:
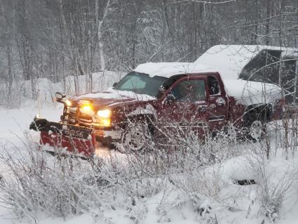
[[[35,118],[30,128],[41,131],[43,145],[88,155],[94,152],[95,140],[139,150],[143,143],[137,137],[144,124],[154,131],[157,121],[208,126],[212,132],[229,122],[259,140],[262,124],[281,114],[282,102],[278,86],[223,81],[216,70],[186,62],[142,64],[107,91],[56,97],[65,105],[61,121]]]

